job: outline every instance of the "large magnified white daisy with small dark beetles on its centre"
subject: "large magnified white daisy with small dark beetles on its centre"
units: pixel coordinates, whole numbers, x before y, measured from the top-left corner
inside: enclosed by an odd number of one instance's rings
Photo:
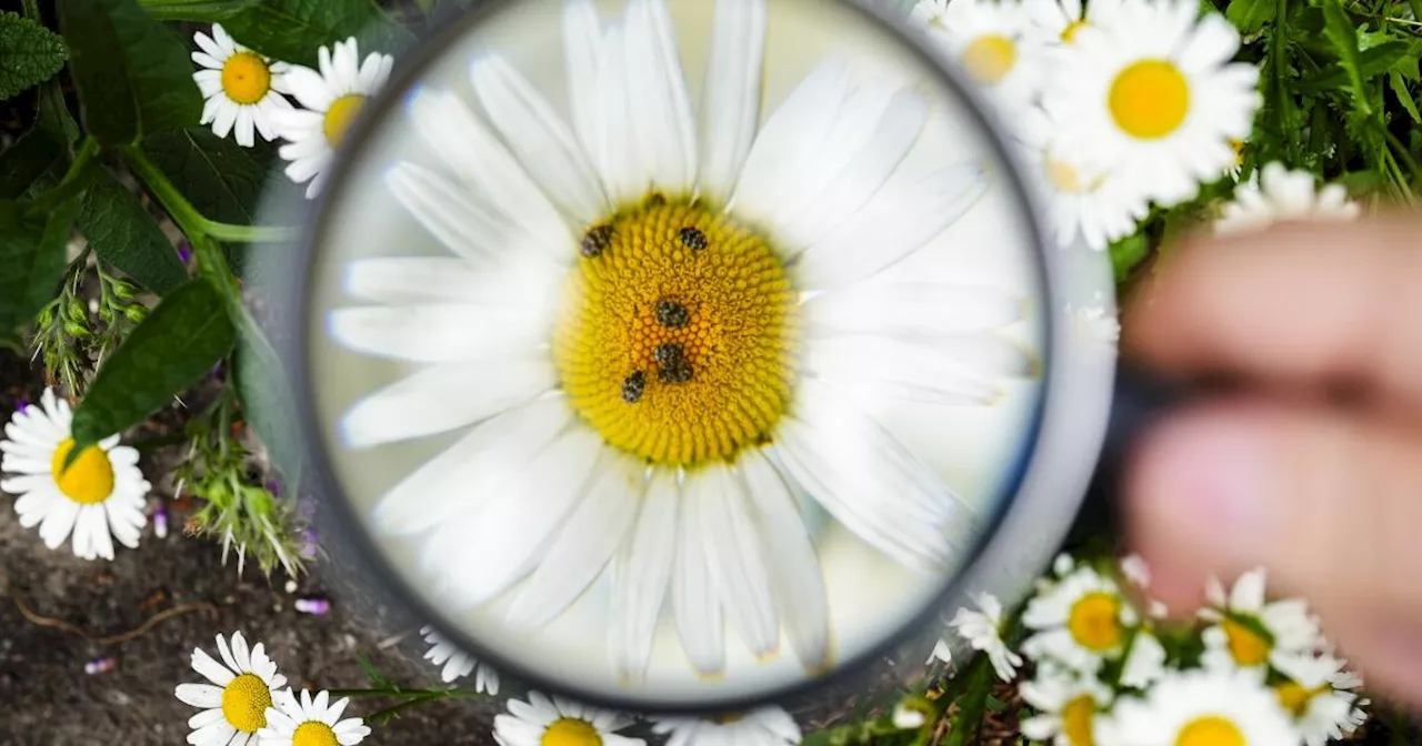
[[[717,3],[700,122],[664,0],[630,0],[610,30],[567,0],[563,21],[572,126],[495,54],[471,65],[488,121],[454,92],[411,97],[448,172],[405,162],[387,180],[456,256],[347,267],[347,291],[374,304],[336,310],[336,340],[424,368],[358,401],[341,431],[364,448],[474,428],[375,520],[424,537],[456,602],[522,581],[505,617],[522,629],[611,566],[627,679],[646,671],[668,590],[698,672],[724,669],[727,621],[758,658],[784,627],[822,668],[829,618],[801,497],[929,573],[975,521],[866,398],[988,404],[1000,377],[1035,365],[994,333],[1021,318],[1010,293],[865,281],[973,206],[983,171],[899,175],[924,99],[852,81],[839,60],[758,131],[764,0]]]

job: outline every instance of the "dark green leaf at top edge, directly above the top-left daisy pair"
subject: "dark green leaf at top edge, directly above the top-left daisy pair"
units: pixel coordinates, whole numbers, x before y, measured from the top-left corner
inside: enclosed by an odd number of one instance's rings
[[[415,37],[371,0],[259,0],[222,21],[233,38],[287,63],[316,67],[316,50],[356,37],[361,54],[400,53]]]

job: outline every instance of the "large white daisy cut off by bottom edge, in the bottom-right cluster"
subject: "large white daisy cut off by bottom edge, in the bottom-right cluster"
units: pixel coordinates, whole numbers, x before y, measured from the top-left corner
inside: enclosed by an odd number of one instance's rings
[[[1239,671],[1173,672],[1145,699],[1121,699],[1103,743],[1290,746],[1298,733],[1274,692]]]

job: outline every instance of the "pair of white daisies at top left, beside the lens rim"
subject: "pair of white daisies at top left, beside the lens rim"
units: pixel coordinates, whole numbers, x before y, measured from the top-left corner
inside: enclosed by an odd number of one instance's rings
[[[321,47],[319,70],[269,60],[237,44],[219,24],[212,26],[212,36],[199,31],[192,38],[199,50],[192,60],[201,67],[193,80],[205,99],[199,124],[210,124],[215,135],[232,135],[246,148],[256,144],[256,135],[286,141],[277,152],[290,162],[286,175],[307,183],[307,198],[320,192],[341,138],[394,65],[388,54],[361,60],[356,38]]]

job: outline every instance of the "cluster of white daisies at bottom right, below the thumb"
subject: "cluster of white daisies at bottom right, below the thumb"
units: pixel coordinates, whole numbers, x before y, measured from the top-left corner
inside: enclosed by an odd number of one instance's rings
[[[1031,664],[1021,729],[1044,743],[1321,746],[1367,719],[1362,681],[1307,604],[1267,598],[1263,570],[1229,591],[1212,581],[1196,624],[1166,621],[1149,583],[1138,557],[1105,567],[1062,556],[1022,608],[1021,634],[991,595],[950,625],[1004,681]],[[950,647],[934,658],[951,662]]]

